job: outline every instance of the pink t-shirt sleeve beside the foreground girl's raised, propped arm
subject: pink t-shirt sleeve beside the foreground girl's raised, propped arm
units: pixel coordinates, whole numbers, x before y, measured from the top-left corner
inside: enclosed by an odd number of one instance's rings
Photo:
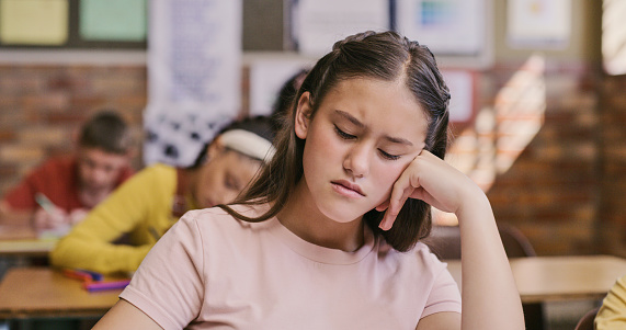
[[[460,312],[460,292],[447,264],[439,261],[434,254],[429,254],[426,258],[434,270],[434,282],[420,319],[441,311]]]

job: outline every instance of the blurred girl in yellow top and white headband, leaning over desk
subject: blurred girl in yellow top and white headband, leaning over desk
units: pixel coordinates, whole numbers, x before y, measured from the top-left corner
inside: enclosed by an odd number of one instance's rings
[[[271,120],[235,122],[191,168],[148,167],[124,183],[61,239],[53,265],[105,274],[132,273],[186,210],[229,203],[273,153]],[[129,244],[114,243],[127,236]]]

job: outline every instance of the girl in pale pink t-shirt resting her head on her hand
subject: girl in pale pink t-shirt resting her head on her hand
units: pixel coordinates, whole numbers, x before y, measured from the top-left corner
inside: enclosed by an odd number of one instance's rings
[[[247,193],[183,216],[95,329],[524,329],[489,201],[442,160],[449,94],[431,52],[348,37],[296,100]],[[459,219],[463,314],[420,242],[429,205]]]

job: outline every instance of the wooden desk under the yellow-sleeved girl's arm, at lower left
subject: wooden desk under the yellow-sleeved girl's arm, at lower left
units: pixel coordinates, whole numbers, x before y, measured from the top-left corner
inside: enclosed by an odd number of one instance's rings
[[[0,283],[0,319],[100,317],[122,289],[89,293],[78,280],[49,268],[14,268]]]

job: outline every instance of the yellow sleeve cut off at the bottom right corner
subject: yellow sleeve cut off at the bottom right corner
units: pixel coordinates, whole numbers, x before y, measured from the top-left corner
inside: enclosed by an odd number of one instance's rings
[[[626,276],[617,280],[595,317],[596,330],[626,329]]]

